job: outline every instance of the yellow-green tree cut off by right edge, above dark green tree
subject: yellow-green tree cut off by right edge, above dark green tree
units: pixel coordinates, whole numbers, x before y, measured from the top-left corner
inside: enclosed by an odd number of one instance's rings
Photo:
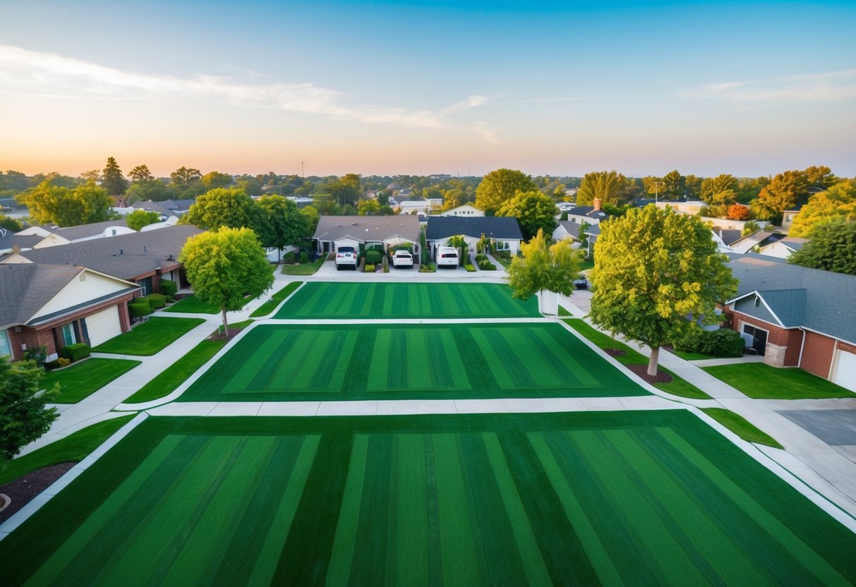
[[[818,222],[809,237],[788,263],[856,276],[856,222],[840,216]]]

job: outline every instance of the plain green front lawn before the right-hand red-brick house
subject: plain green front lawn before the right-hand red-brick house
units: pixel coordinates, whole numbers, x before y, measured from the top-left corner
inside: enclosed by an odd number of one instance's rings
[[[856,397],[851,391],[796,367],[771,367],[765,363],[705,367],[713,377],[722,379],[755,400],[819,400],[832,397]]]

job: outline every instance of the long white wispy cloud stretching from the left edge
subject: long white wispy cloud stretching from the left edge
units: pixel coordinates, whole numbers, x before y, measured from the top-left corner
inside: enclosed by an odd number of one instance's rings
[[[369,124],[434,128],[452,127],[446,116],[475,108],[488,99],[471,96],[441,110],[351,104],[345,93],[311,83],[246,84],[210,75],[181,79],[135,74],[9,45],[0,45],[0,92],[80,98],[203,99]]]

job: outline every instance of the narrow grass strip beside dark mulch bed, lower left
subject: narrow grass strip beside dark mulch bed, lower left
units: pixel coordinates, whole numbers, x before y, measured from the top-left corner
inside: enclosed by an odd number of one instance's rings
[[[101,446],[105,440],[113,436],[116,430],[128,424],[131,418],[134,418],[136,415],[135,413],[128,414],[127,416],[120,416],[119,418],[92,424],[92,426],[78,430],[62,440],[51,442],[46,447],[39,448],[32,453],[10,461],[3,471],[0,471],[0,485],[15,481],[15,479],[23,477],[27,473],[39,471],[39,469],[46,466],[85,459],[93,450]]]

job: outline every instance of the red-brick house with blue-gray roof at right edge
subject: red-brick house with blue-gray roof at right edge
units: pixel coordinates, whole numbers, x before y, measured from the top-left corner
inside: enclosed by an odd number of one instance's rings
[[[753,254],[728,265],[740,286],[725,312],[747,347],[856,391],[856,276]]]

